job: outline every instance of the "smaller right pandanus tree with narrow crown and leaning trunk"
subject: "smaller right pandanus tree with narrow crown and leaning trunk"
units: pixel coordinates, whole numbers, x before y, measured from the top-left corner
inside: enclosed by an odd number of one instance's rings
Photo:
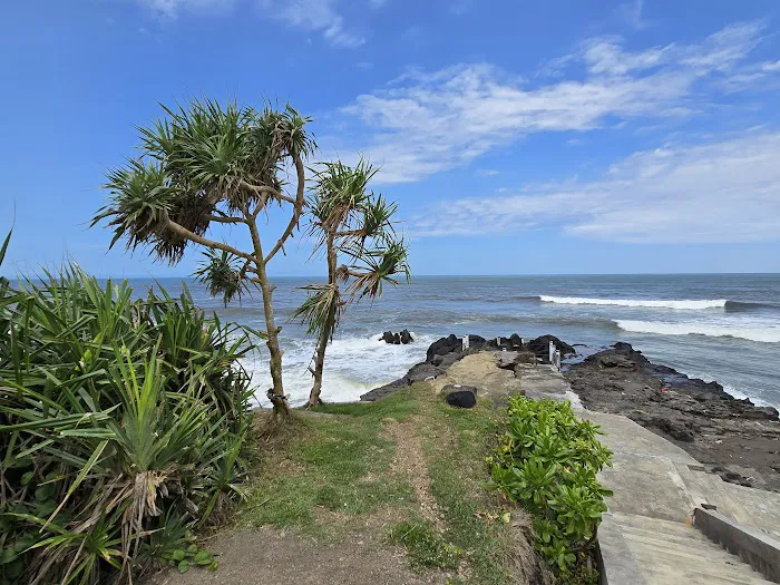
[[[316,338],[308,408],[320,403],[328,343],[345,306],[374,300],[382,294],[382,284],[398,284],[399,275],[410,277],[407,246],[392,220],[397,205],[367,188],[376,174],[377,168],[361,159],[355,167],[325,163],[314,175],[309,230],[316,243],[313,255],[326,260],[328,283],[304,286],[309,295],[292,318],[308,324],[309,334]]]

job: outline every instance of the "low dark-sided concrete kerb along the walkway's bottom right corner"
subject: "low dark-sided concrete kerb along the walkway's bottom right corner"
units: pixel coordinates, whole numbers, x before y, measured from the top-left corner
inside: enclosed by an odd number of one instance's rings
[[[780,540],[727,518],[715,510],[695,508],[693,524],[710,540],[739,555],[773,583],[780,583]]]

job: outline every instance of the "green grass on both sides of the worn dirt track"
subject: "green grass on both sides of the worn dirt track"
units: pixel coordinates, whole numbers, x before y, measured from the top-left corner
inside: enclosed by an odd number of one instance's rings
[[[352,520],[389,507],[394,523],[384,537],[407,548],[413,567],[451,571],[466,562],[468,583],[510,582],[510,527],[501,521],[505,510],[496,494],[485,487],[485,458],[495,446],[500,411],[488,402],[452,409],[427,384],[378,402],[325,404],[320,411],[338,417],[301,419],[285,447],[265,457],[238,514],[242,523],[339,538]],[[396,445],[384,431],[388,419],[413,420],[411,428],[422,439],[431,494],[443,516],[439,530],[421,519],[411,478],[392,469]],[[318,508],[340,513],[338,521]]]

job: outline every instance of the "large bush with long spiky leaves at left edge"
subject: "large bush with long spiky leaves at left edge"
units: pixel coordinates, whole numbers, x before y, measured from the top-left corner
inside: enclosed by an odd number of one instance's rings
[[[246,334],[77,267],[0,283],[0,584],[214,567],[193,529],[242,495]]]

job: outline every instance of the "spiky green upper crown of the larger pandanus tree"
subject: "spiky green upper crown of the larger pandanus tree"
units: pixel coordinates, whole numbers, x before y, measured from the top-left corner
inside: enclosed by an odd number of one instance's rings
[[[305,130],[309,118],[290,106],[257,111],[204,99],[163,110],[165,118],[138,129],[140,155],[108,173],[110,199],[92,225],[106,220],[111,246],[126,238],[128,248],[148,245],[172,264],[192,240],[170,222],[203,236],[230,213],[246,218],[251,206],[281,203],[280,169],[300,164],[315,147]]]

